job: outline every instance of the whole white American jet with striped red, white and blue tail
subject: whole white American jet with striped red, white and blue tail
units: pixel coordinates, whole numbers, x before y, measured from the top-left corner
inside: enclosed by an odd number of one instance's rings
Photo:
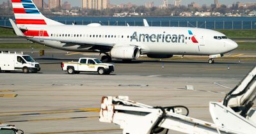
[[[48,19],[31,0],[12,0],[15,33],[35,43],[74,52],[99,52],[102,61],[112,58],[170,58],[173,55],[214,58],[237,48],[237,43],[222,33],[191,27],[88,26],[65,25]]]

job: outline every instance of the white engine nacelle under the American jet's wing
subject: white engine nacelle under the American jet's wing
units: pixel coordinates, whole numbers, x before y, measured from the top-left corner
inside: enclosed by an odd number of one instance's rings
[[[110,51],[110,56],[115,59],[138,59],[140,48],[135,46],[115,46]]]

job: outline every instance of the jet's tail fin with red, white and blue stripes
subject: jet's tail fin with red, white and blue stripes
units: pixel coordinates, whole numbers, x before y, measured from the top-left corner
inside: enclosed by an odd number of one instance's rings
[[[12,0],[12,7],[18,27],[63,25],[42,15],[32,0]]]

